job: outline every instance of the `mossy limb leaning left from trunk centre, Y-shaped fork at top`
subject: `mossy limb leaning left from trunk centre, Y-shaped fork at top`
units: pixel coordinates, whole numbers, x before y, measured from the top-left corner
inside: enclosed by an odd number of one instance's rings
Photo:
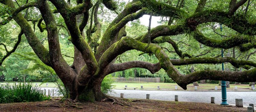
[[[77,5],[77,7],[71,8],[64,0],[49,0],[54,4],[58,12],[64,18],[66,26],[70,32],[71,42],[76,46],[76,48],[81,52],[83,59],[86,63],[86,68],[90,69],[90,75],[95,73],[97,68],[97,61],[94,57],[91,47],[88,42],[81,35],[81,31],[76,22],[76,14],[84,13],[92,7],[91,1],[86,0],[83,4],[85,7]],[[77,11],[76,11],[77,10]],[[82,12],[81,12],[82,11]]]

